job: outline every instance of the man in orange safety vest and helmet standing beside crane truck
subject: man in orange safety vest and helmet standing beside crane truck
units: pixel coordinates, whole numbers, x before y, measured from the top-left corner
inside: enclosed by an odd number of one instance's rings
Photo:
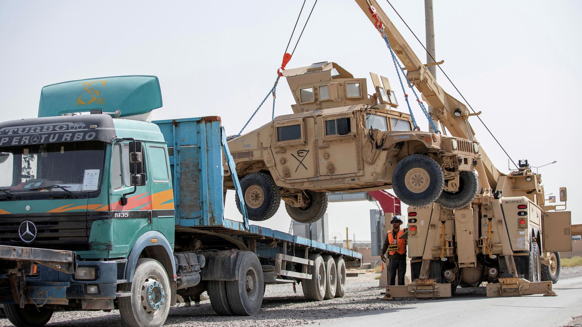
[[[406,232],[406,229],[400,228],[403,221],[400,216],[394,216],[392,229],[386,233],[386,240],[382,246],[382,261],[388,262],[388,285],[396,285],[396,273],[398,273],[398,285],[404,285],[404,274],[406,274],[406,239],[400,239],[400,236]],[[386,250],[388,254],[384,255]]]

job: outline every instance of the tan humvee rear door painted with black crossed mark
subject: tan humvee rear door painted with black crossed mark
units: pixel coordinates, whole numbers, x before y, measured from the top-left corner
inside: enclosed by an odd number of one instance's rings
[[[271,151],[277,172],[283,179],[300,180],[318,176],[313,118],[275,122],[272,133]]]

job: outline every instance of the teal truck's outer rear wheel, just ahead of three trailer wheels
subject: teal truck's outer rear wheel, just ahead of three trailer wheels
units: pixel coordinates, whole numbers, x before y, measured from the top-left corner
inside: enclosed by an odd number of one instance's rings
[[[254,315],[261,309],[264,294],[261,262],[250,251],[244,251],[242,257],[238,280],[226,282],[226,294],[235,315]]]

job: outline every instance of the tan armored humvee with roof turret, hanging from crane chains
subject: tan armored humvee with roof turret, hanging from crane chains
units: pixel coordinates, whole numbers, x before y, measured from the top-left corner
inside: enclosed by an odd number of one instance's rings
[[[293,113],[228,141],[249,219],[271,218],[283,199],[295,221],[315,222],[327,209],[327,193],[338,191],[393,189],[413,206],[471,203],[478,143],[413,130],[410,115],[396,111],[388,79],[370,75],[368,96],[366,79],[334,62],[284,71]]]

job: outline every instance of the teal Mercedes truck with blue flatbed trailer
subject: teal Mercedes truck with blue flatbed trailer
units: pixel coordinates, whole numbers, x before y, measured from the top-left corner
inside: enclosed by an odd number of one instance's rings
[[[161,106],[157,77],[104,77],[46,86],[38,118],[0,123],[0,306],[12,324],[119,310],[128,326],[161,326],[178,295],[205,290],[217,314],[252,315],[274,283],[343,296],[361,254],[227,219],[220,118],[151,122]]]

